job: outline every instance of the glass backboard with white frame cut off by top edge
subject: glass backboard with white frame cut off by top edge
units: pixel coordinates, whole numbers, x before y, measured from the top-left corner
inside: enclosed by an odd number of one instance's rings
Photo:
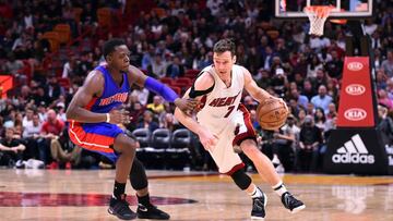
[[[275,17],[307,19],[303,9],[310,5],[334,7],[329,19],[371,17],[373,13],[373,0],[275,0]]]

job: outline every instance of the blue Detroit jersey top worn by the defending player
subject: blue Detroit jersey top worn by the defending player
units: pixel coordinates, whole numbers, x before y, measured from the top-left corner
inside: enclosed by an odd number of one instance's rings
[[[122,85],[115,82],[109,71],[104,65],[95,67],[104,75],[104,91],[100,97],[94,97],[86,106],[86,109],[96,113],[108,113],[114,108],[117,108],[127,101],[129,93],[131,91],[128,74],[123,73]]]

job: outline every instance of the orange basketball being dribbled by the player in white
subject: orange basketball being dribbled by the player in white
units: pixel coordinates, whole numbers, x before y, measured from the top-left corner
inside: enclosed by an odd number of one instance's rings
[[[282,127],[288,116],[288,109],[283,101],[269,98],[257,108],[257,119],[264,130],[274,131]]]

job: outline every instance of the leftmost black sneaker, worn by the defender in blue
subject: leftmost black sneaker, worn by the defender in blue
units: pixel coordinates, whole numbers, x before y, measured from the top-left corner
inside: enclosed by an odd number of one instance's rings
[[[120,220],[132,220],[136,218],[136,213],[130,209],[129,202],[126,200],[126,194],[121,195],[120,199],[115,197],[110,198],[108,212],[118,217]]]

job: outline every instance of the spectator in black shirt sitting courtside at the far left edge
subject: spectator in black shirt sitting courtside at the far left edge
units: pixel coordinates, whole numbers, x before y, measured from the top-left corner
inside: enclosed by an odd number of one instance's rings
[[[25,149],[26,147],[14,138],[14,128],[5,128],[5,136],[0,142],[0,165],[10,168],[22,165]]]

